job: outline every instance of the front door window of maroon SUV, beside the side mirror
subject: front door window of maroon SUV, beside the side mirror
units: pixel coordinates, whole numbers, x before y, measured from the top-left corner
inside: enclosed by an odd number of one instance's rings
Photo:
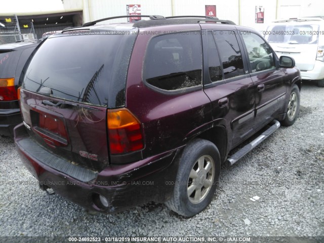
[[[273,54],[263,39],[257,34],[242,35],[247,47],[252,72],[263,71],[275,67]]]

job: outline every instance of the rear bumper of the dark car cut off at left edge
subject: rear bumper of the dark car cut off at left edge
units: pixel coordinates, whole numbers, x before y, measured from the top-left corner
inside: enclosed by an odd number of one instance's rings
[[[13,130],[22,122],[20,109],[0,109],[0,135],[14,135]]]

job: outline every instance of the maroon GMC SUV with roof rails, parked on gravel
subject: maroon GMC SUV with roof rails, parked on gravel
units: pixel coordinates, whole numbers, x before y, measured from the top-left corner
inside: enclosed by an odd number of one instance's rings
[[[150,16],[96,25],[108,19],[37,47],[20,91],[21,158],[41,189],[89,210],[155,201],[193,216],[212,200],[222,163],[244,156],[277,120],[294,124],[300,72],[231,21]]]

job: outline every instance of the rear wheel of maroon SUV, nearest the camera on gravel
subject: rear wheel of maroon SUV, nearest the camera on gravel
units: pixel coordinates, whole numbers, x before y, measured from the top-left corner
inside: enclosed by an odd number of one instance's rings
[[[192,217],[211,202],[221,169],[220,154],[210,141],[195,139],[182,152],[174,192],[167,207]],[[189,194],[190,193],[190,194]]]

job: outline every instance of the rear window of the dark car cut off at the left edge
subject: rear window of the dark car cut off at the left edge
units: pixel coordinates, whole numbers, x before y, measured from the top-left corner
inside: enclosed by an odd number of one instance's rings
[[[0,51],[0,78],[15,77],[19,53],[17,51]]]

